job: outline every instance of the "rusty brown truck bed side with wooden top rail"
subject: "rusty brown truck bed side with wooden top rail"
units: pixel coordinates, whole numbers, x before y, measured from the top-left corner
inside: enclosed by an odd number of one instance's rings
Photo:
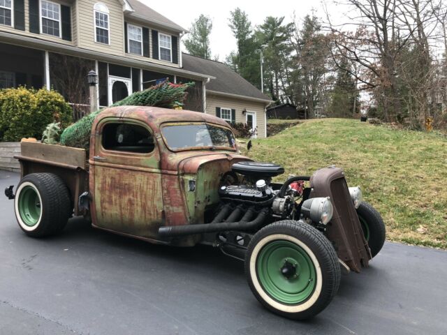
[[[39,142],[22,142],[20,147],[20,155],[14,156],[20,162],[20,177],[39,172],[57,174],[70,190],[75,215],[81,215],[78,198],[85,191],[89,191],[85,149]]]

